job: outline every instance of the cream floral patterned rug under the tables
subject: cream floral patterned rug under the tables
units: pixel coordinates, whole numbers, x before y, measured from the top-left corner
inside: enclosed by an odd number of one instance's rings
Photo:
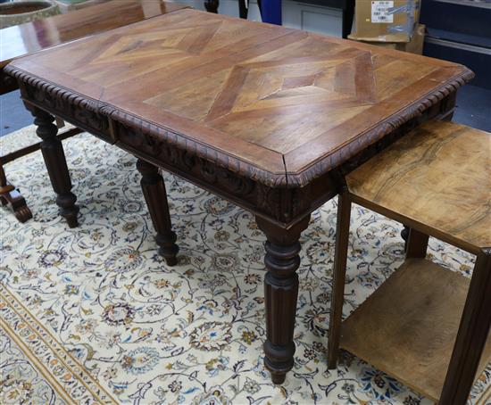
[[[33,139],[24,128],[2,153]],[[326,367],[336,201],[302,237],[295,368],[282,386],[262,366],[264,237],[254,217],[165,176],[179,266],[157,254],[135,158],[82,134],[63,142],[80,227],[57,215],[40,153],[6,166],[34,219],[0,209],[0,403],[431,403],[344,354]],[[354,206],[345,315],[403,260],[401,226]],[[433,260],[469,275],[469,254],[430,241]],[[491,367],[469,403],[491,402]]]

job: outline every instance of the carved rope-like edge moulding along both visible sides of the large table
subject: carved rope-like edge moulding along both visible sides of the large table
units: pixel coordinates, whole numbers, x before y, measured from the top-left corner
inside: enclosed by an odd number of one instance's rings
[[[438,103],[445,96],[455,92],[458,88],[469,82],[470,79],[474,78],[474,73],[471,70],[463,66],[462,68],[463,70],[458,76],[447,80],[440,87],[437,87],[417,102],[393,114],[376,127],[370,128],[360,134],[349,145],[340,147],[335,153],[321,158],[300,173],[288,172],[287,168],[284,173],[272,173],[248,161],[241,160],[237,156],[230,156],[228,153],[223,153],[209,145],[196,142],[169,128],[164,128],[148,120],[142,120],[129,112],[123,112],[110,103],[100,102],[85,95],[80,95],[73,90],[55,85],[46,79],[38,78],[36,75],[10,64],[5,66],[4,71],[14,79],[29,86],[36,87],[46,94],[62,100],[63,103],[70,103],[75,107],[99,113],[122,125],[128,125],[130,128],[139,130],[150,136],[164,136],[164,141],[169,145],[173,145],[178,149],[196,155],[196,157],[210,161],[212,164],[229,169],[229,171],[239,176],[250,178],[265,186],[274,188],[301,188],[311,183],[315,178],[320,178],[330,170],[336,169],[343,162],[354,157],[357,153],[362,152],[367,146],[376,143],[394,129],[401,127],[405,122],[419,116],[422,112],[429,109],[429,107]],[[29,100],[27,101],[29,102]]]

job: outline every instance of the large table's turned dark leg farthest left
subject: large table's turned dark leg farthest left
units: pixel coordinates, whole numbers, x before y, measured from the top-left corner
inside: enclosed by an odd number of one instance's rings
[[[40,110],[31,108],[37,125],[37,136],[41,142],[41,152],[46,163],[46,169],[56,193],[56,204],[60,207],[60,215],[66,219],[69,227],[77,227],[77,213],[79,207],[75,205],[77,197],[71,193],[71,179],[63,153],[62,142],[56,136],[58,128],[54,125],[54,116]]]

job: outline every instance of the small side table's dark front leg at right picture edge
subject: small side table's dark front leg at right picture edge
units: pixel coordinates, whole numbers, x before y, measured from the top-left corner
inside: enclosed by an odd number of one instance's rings
[[[459,333],[440,396],[442,405],[467,402],[491,326],[491,248],[476,260]]]

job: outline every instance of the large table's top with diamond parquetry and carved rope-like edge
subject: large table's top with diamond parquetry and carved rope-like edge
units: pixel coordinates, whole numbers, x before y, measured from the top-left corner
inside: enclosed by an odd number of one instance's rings
[[[308,184],[472,77],[451,62],[195,10],[31,54],[6,70],[281,187]]]

